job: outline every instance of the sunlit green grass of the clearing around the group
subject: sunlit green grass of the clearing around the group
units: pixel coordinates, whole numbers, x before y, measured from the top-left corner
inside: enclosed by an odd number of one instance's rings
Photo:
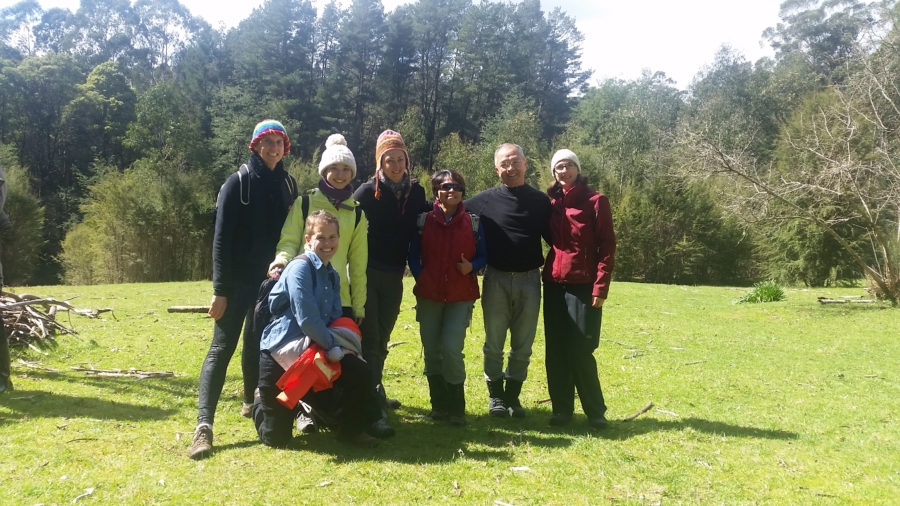
[[[409,287],[407,287],[409,288]],[[820,306],[859,289],[788,290],[732,305],[745,289],[615,283],[597,351],[610,428],[583,415],[547,426],[538,330],[524,420],[485,416],[481,312],[466,343],[469,426],[433,425],[421,346],[403,302],[387,390],[397,436],[365,451],[328,434],[287,450],[240,418],[236,354],[219,404],[216,452],[186,456],[211,324],[168,314],[205,304],[209,283],[18,290],[113,307],[72,317],[47,356],[14,353],[0,397],[0,504],[886,504],[900,501],[900,310]],[[65,318],[65,317],[63,317]],[[28,369],[23,358],[58,373]],[[89,377],[70,366],[174,371],[169,379]],[[654,408],[622,418],[648,401]],[[513,467],[527,467],[513,471]],[[329,485],[319,486],[325,482]],[[454,483],[457,487],[454,487]]]

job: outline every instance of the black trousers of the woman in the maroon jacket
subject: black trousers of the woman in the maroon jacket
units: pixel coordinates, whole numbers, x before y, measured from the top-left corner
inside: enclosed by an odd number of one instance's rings
[[[594,350],[600,343],[602,308],[591,306],[593,286],[544,282],[547,388],[553,414],[571,415],[575,390],[588,418],[606,413]]]

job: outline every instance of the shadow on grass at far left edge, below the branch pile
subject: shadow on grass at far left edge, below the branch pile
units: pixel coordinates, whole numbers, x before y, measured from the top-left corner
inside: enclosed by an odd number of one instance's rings
[[[84,417],[119,421],[162,420],[176,413],[175,409],[19,389],[10,392],[3,399],[3,407],[13,411],[13,414],[0,415],[0,425],[37,417]]]

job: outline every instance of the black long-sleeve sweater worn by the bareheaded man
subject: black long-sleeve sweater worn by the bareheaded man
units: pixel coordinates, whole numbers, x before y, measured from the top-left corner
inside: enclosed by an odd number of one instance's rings
[[[550,239],[550,198],[531,186],[497,186],[466,200],[466,209],[481,217],[488,266],[526,272],[544,264],[541,238]]]

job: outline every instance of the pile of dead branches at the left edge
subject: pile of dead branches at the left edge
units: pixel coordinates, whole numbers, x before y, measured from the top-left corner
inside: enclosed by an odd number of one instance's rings
[[[54,339],[56,335],[62,334],[77,334],[71,326],[71,320],[68,326],[57,321],[57,315],[61,312],[96,318],[101,313],[112,314],[112,309],[76,309],[67,301],[50,297],[0,292],[0,313],[11,345],[18,344],[37,350],[35,344],[42,344],[46,339]]]

